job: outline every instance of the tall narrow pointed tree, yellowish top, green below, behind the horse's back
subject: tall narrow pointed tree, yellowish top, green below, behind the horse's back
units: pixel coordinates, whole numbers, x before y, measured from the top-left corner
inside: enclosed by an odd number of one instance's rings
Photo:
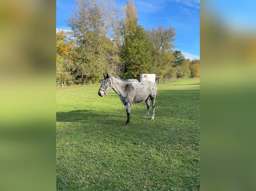
[[[125,12],[121,22],[123,77],[132,78],[148,71],[151,55],[148,52],[145,30],[137,24],[137,12],[133,0],[126,3],[123,11]]]

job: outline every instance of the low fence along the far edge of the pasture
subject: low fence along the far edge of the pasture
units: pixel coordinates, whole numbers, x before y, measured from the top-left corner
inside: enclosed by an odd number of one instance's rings
[[[172,78],[172,79],[160,79],[161,82],[169,82],[174,80],[185,80],[185,79],[200,79],[200,77],[194,77],[194,78]],[[91,86],[91,85],[99,85],[102,81],[98,82],[92,82],[92,81],[74,81],[74,82],[56,82],[56,87],[68,87],[68,86]],[[157,83],[157,81],[156,81]]]

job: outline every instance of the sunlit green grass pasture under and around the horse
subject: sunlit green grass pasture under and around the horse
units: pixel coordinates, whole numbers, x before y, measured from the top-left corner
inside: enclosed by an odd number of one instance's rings
[[[127,127],[99,86],[56,90],[56,190],[200,190],[200,79],[157,84],[155,119],[134,103]]]

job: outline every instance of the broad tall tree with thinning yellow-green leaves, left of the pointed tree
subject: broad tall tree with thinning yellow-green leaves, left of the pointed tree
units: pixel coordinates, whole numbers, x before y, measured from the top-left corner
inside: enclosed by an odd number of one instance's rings
[[[117,9],[114,0],[77,0],[75,10],[66,20],[76,41],[74,63],[78,80],[98,80],[118,62],[116,47],[111,41]]]

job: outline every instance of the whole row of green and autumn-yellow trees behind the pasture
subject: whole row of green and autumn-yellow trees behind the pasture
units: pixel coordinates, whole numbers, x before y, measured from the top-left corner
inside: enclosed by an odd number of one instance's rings
[[[133,0],[120,9],[114,0],[77,0],[65,21],[71,30],[56,31],[56,82],[97,82],[106,72],[121,78],[200,76],[200,60],[174,50],[175,28],[144,29]]]

